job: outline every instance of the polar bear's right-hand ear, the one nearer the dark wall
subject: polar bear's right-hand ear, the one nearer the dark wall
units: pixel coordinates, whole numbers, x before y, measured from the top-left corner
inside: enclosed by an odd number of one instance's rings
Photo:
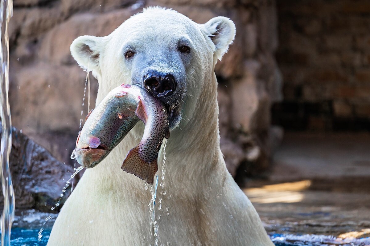
[[[219,16],[212,18],[202,26],[205,34],[215,45],[216,57],[221,60],[234,40],[236,31],[234,22],[227,17]]]

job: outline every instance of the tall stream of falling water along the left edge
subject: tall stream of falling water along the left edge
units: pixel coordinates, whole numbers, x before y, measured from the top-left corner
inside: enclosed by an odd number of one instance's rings
[[[1,245],[10,246],[10,230],[14,220],[14,190],[9,169],[11,150],[11,116],[9,107],[9,36],[8,23],[13,15],[13,1],[1,0],[0,6],[0,117],[1,117],[1,183],[4,195],[4,210],[1,215]]]

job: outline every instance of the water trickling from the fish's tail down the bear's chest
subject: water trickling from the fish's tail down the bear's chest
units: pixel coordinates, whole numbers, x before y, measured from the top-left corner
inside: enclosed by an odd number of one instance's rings
[[[161,210],[162,209],[162,195],[166,195],[166,192],[164,191],[164,177],[165,177],[165,163],[166,163],[166,146],[167,146],[167,139],[164,140],[164,146],[163,146],[163,161],[162,161],[162,170],[161,170],[161,177],[160,177],[160,180],[161,182],[159,183],[159,186],[161,187],[161,197],[158,199],[158,203],[156,203],[157,201],[157,189],[158,189],[158,182],[159,182],[159,174],[157,174],[155,177],[154,177],[154,184],[152,187],[149,187],[149,190],[152,194],[152,198],[149,202],[149,215],[150,215],[150,220],[151,220],[151,223],[150,223],[150,227],[151,227],[151,237],[154,236],[154,246],[158,246],[158,229],[159,229],[159,224],[158,224],[158,221],[159,219],[161,218],[161,215],[158,215],[157,218],[155,217],[155,207],[157,206],[158,204],[158,210]],[[147,183],[145,183],[145,190],[148,189],[148,185]],[[167,209],[168,211],[168,209]]]

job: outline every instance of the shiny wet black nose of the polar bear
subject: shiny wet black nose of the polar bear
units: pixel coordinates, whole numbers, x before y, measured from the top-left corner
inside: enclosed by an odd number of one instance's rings
[[[174,93],[176,81],[169,73],[150,71],[144,76],[144,87],[156,97],[166,97]]]

